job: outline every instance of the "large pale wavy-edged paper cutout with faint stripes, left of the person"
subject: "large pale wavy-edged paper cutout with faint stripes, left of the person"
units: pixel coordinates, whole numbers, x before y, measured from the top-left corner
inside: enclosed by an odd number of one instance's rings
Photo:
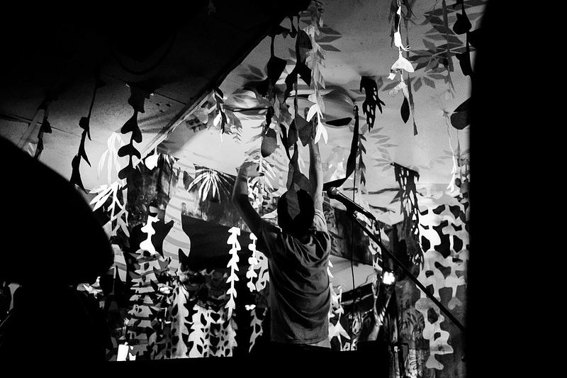
[[[174,194],[172,198],[169,199],[165,208],[164,217],[165,223],[173,221],[173,226],[164,238],[162,250],[164,252],[164,257],[169,257],[171,259],[169,270],[172,273],[177,274],[180,267],[179,256],[183,254],[185,257],[189,257],[189,252],[191,251],[191,239],[183,230],[181,216],[183,216],[184,213],[187,213],[187,211],[189,211],[192,207],[194,198],[184,187],[179,165],[174,165],[173,169],[178,172],[178,179]]]

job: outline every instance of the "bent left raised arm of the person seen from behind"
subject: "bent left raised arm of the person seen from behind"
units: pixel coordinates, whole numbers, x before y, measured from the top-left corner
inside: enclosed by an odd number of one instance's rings
[[[254,162],[244,162],[238,169],[235,187],[232,190],[232,204],[236,207],[252,233],[258,235],[262,218],[254,210],[248,199],[248,177],[258,175],[258,165]]]

